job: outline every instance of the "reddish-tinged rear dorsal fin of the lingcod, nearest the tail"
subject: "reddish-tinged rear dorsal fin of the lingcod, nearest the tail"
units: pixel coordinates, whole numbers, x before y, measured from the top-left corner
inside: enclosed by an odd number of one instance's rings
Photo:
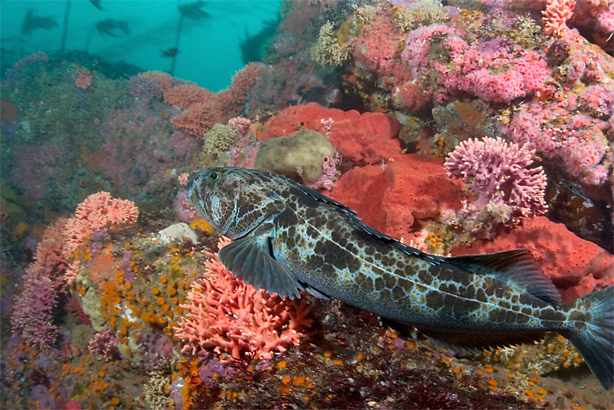
[[[557,308],[563,305],[559,291],[528,249],[454,256],[445,258],[445,262],[472,273],[496,276]]]

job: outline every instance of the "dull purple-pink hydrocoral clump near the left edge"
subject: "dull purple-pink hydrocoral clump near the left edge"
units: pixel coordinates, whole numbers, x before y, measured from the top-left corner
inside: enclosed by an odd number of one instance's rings
[[[55,342],[57,328],[51,323],[56,292],[48,273],[30,267],[24,277],[23,292],[11,316],[13,335],[22,335],[27,345],[43,350]]]

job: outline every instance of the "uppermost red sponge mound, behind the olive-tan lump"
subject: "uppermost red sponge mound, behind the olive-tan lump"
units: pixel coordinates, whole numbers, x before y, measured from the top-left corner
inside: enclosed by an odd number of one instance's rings
[[[332,119],[327,130],[323,122]],[[267,124],[262,141],[296,133],[301,127],[326,134],[341,155],[355,165],[387,161],[401,154],[396,118],[383,113],[364,113],[325,108],[316,103],[286,108]]]

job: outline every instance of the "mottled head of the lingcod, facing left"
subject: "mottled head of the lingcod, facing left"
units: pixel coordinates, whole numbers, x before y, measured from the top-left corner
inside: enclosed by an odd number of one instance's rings
[[[238,239],[285,209],[272,189],[277,175],[244,168],[206,168],[187,182],[192,204],[222,235]]]

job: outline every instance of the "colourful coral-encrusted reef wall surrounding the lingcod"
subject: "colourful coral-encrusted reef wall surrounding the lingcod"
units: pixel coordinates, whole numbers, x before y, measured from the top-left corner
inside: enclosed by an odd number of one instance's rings
[[[285,0],[263,61],[217,93],[22,59],[0,84],[1,407],[609,408],[562,336],[459,356],[246,285],[185,184],[266,166],[434,255],[527,248],[564,302],[612,286],[613,15]]]

